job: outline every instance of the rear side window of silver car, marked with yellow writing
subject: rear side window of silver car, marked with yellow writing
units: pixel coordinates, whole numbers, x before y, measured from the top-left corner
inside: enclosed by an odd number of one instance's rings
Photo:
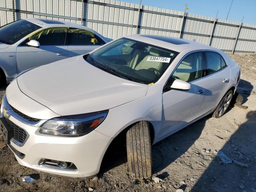
[[[69,29],[68,45],[104,45],[105,42],[94,32],[85,29]]]

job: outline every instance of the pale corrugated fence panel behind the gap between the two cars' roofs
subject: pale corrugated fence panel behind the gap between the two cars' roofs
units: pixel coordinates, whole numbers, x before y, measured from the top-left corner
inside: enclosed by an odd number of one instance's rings
[[[136,34],[138,25],[138,11],[126,8],[139,8],[138,4],[120,2],[114,0],[94,0],[104,4],[122,6],[124,8],[111,7],[108,5],[98,5],[88,3],[88,21],[87,26],[96,30],[98,33],[108,38],[117,39],[122,36]],[[124,24],[124,25],[118,25]]]

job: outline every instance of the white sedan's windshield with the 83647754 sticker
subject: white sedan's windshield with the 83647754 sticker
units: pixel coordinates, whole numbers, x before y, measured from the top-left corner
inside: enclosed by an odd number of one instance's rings
[[[158,81],[177,54],[172,50],[122,38],[84,58],[90,64],[121,78],[151,84]]]

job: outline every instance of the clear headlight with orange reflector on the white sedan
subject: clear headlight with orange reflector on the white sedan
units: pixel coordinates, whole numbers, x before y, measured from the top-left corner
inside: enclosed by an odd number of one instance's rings
[[[108,110],[53,118],[42,124],[42,134],[76,137],[88,134],[106,118]]]

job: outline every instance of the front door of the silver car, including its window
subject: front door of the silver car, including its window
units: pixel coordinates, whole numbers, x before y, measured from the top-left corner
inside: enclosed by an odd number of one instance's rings
[[[17,73],[36,66],[48,64],[67,58],[68,46],[65,45],[66,32],[50,30],[36,38],[40,47],[30,47],[25,40],[17,47]]]

